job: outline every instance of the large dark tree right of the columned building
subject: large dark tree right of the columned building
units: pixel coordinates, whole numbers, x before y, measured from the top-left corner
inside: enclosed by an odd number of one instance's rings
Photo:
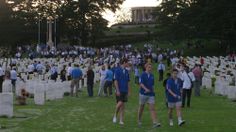
[[[165,36],[220,39],[233,44],[235,5],[235,0],[163,0],[155,15],[157,23],[166,29]]]

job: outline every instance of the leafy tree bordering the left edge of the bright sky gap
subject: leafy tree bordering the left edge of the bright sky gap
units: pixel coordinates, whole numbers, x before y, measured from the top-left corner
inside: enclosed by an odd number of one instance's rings
[[[93,40],[101,36],[108,22],[102,17],[106,10],[115,12],[124,0],[77,0],[67,1],[63,10],[65,22],[64,29],[73,35],[73,38],[81,40],[82,45],[87,45],[89,38]],[[92,37],[92,38],[91,38]],[[90,42],[91,43],[91,42]]]

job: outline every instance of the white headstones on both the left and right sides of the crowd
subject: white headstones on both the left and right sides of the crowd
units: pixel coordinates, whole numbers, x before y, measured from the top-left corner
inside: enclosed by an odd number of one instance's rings
[[[193,67],[195,63],[199,63],[198,57],[187,57],[187,63],[190,67]],[[221,60],[221,65],[217,67],[218,65],[218,59]],[[216,78],[215,82],[215,94],[220,95],[226,95],[229,99],[235,100],[236,99],[236,87],[230,86],[230,82],[232,79],[235,79],[236,77],[236,69],[235,69],[235,62],[228,62],[227,58],[225,57],[205,57],[204,58],[205,63],[203,65],[203,69],[206,69],[208,72],[204,73],[202,84],[203,87],[206,87],[208,89],[212,88],[212,77]],[[61,59],[59,62],[56,61],[56,59],[38,59],[37,61],[48,61],[50,63],[58,64],[59,71],[62,69],[63,65],[68,65],[69,62],[65,62],[63,59]],[[0,60],[1,62],[1,60]],[[4,68],[4,60],[2,60],[3,68]],[[79,60],[75,60],[75,62],[79,62]],[[24,59],[19,61],[18,69],[24,69],[27,67],[26,64],[32,63],[31,60]],[[9,63],[8,63],[9,64]],[[86,63],[84,63],[86,64]],[[73,64],[72,64],[73,65]],[[229,65],[229,67],[226,68],[226,65]],[[94,65],[94,72],[95,72],[95,82],[98,82],[100,79],[99,70],[101,67],[98,66],[98,64]],[[219,71],[219,76],[215,76],[215,71]],[[87,71],[87,65],[85,68],[82,69],[83,74],[86,74]],[[234,76],[227,75],[227,71],[231,71]],[[43,77],[44,76],[44,77]],[[23,74],[22,78],[26,80],[26,82],[20,81],[20,79],[17,80],[16,83],[16,96],[20,95],[21,89],[26,89],[27,92],[34,95],[34,102],[36,105],[44,105],[46,100],[56,100],[56,99],[62,99],[64,93],[70,92],[70,82],[65,81],[61,82],[60,78],[57,78],[57,81],[51,81],[49,80],[49,74],[45,75],[32,75],[29,77],[29,80],[27,80],[27,75]],[[43,80],[44,78],[44,80]],[[84,76],[84,85],[82,86],[82,82],[80,81],[80,88],[86,87],[86,76]],[[7,89],[7,88],[6,88]],[[10,89],[10,88],[8,88]],[[13,93],[8,92],[10,90],[5,90],[6,92],[3,92],[0,94],[0,116],[13,116]]]

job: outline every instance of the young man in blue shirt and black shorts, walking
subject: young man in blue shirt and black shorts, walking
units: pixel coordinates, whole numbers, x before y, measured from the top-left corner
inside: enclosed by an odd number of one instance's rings
[[[123,58],[121,60],[121,66],[114,73],[117,104],[113,116],[113,123],[117,122],[117,116],[120,114],[120,125],[124,125],[125,103],[128,101],[128,95],[130,95],[130,77],[128,70],[126,70],[128,66],[128,60]]]

